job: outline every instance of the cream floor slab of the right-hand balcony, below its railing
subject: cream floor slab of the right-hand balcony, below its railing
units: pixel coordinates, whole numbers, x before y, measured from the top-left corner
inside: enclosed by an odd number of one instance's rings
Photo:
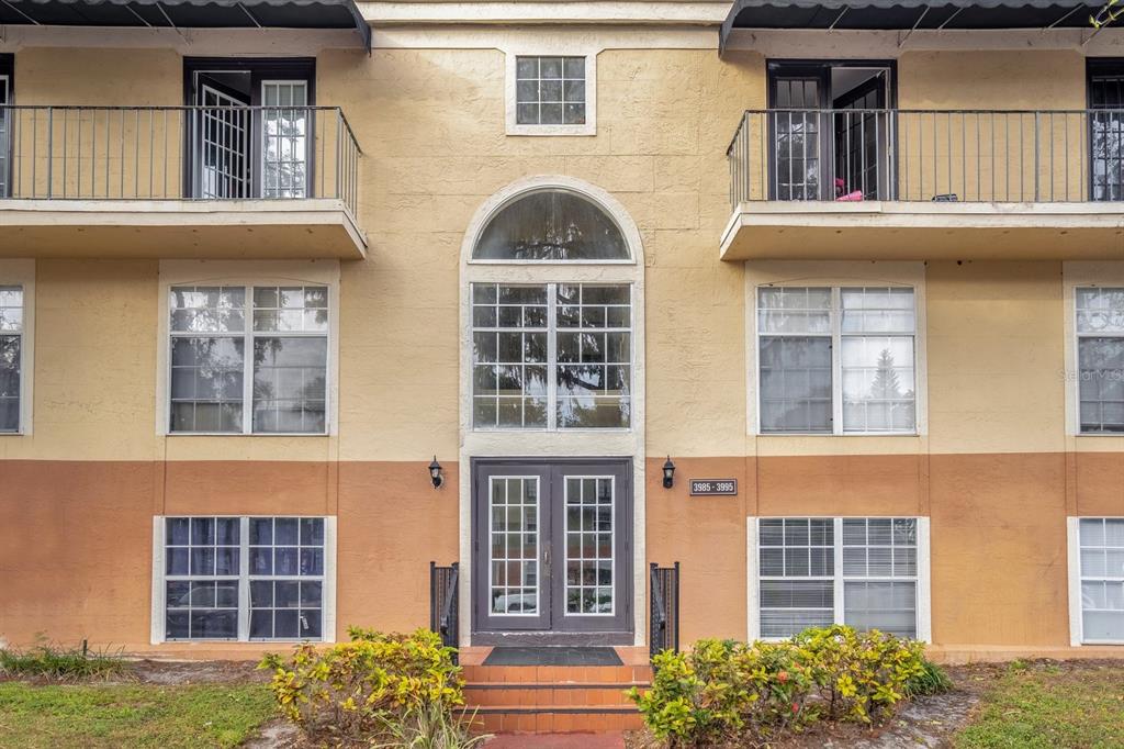
[[[1124,202],[743,202],[720,258],[1124,260]]]

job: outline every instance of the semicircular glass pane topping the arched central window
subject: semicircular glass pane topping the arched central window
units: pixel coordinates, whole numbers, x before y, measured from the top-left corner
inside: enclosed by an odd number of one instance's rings
[[[616,222],[569,190],[525,193],[500,208],[480,233],[473,260],[592,261],[631,259]]]

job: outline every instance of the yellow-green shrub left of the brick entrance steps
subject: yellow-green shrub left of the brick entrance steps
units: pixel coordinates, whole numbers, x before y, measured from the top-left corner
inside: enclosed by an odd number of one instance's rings
[[[319,741],[369,741],[430,710],[463,704],[452,648],[428,630],[383,634],[352,628],[350,642],[298,646],[290,660],[266,656],[281,712]],[[419,712],[420,711],[420,712]],[[423,745],[425,746],[425,745]]]

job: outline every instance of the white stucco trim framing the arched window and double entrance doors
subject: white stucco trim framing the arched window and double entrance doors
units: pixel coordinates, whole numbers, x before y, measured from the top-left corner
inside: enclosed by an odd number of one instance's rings
[[[628,245],[631,259],[616,263],[473,262],[472,250],[488,220],[526,192],[564,189],[598,204],[616,222]],[[460,606],[461,644],[472,638],[472,470],[473,458],[624,458],[633,467],[633,626],[634,643],[646,641],[647,554],[645,532],[645,326],[644,247],[640,229],[628,211],[605,190],[571,177],[547,174],[508,184],[477,209],[461,244],[460,263]],[[633,403],[628,430],[481,431],[472,428],[472,297],[473,281],[501,282],[622,282],[633,289]],[[438,457],[439,458],[439,457]]]

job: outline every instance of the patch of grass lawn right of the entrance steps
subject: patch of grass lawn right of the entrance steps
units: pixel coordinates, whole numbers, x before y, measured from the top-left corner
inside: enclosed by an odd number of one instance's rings
[[[1015,662],[984,691],[954,746],[1124,747],[1124,664]]]

